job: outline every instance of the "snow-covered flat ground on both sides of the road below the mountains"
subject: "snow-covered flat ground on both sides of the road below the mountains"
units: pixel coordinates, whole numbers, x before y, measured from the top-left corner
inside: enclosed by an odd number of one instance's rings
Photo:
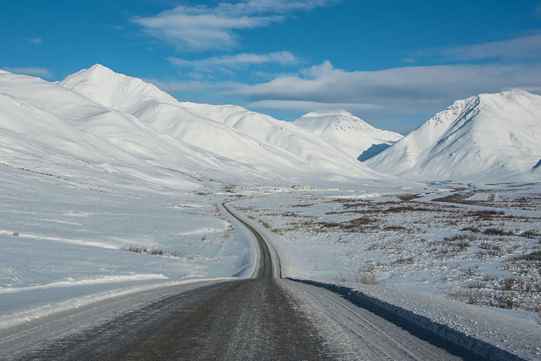
[[[458,330],[520,355],[540,352],[541,184],[126,193],[9,167],[0,181],[0,329],[160,285],[248,275],[253,244],[219,207],[238,198],[232,205],[274,242],[283,276],[358,289],[412,322],[449,325],[433,331],[446,337]],[[306,304],[328,324],[328,312]]]

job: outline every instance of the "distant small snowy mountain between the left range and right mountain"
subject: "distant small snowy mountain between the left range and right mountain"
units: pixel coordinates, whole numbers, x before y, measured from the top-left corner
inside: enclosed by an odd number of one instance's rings
[[[307,113],[293,124],[311,131],[360,161],[373,157],[402,138],[398,133],[374,128],[345,110]]]

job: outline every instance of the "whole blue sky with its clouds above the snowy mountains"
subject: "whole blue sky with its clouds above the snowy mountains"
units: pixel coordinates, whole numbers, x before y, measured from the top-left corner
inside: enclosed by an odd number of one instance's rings
[[[456,99],[541,94],[539,0],[225,1],[2,1],[0,68],[99,63],[181,101],[343,109],[402,134]]]

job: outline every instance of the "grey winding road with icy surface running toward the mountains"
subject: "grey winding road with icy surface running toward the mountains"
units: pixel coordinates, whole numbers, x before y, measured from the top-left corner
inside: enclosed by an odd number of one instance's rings
[[[34,329],[0,334],[20,360],[456,360],[467,352],[414,326],[381,318],[326,289],[280,279],[278,255],[249,220],[252,278],[119,297]],[[139,298],[138,298],[139,297]],[[147,302],[143,302],[143,300]],[[115,303],[116,302],[116,303]],[[135,302],[136,303],[136,302]],[[96,308],[97,307],[97,308]],[[101,307],[101,308],[100,308]],[[124,308],[123,308],[124,307]],[[114,312],[113,312],[114,311]],[[84,313],[84,312],[83,312]],[[84,320],[108,314],[94,326]],[[95,322],[94,322],[95,323]],[[52,338],[51,335],[61,335]],[[64,336],[62,336],[65,334]]]

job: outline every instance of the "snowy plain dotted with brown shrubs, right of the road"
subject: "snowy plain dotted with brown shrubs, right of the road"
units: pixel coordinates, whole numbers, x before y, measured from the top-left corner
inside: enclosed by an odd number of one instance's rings
[[[276,234],[285,276],[451,297],[535,324],[541,184],[358,188],[236,206]]]

